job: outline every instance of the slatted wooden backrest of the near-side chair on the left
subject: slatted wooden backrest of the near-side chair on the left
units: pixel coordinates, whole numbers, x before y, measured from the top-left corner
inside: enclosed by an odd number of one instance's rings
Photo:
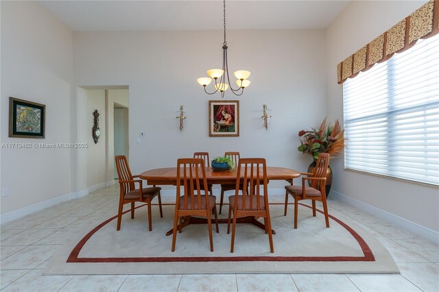
[[[184,200],[182,206],[180,204],[181,190],[183,190],[182,199]],[[180,206],[180,210],[210,210],[208,195],[204,160],[202,158],[178,159],[176,206]]]

